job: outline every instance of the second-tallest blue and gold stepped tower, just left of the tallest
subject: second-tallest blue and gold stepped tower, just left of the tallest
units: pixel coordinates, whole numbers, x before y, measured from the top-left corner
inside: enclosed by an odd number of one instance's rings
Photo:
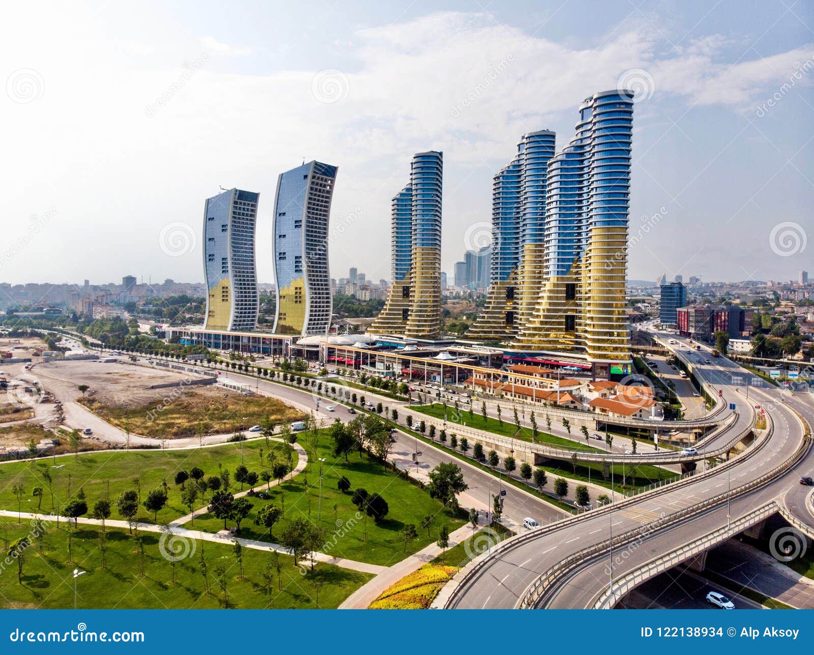
[[[470,338],[503,341],[531,317],[542,285],[547,165],[555,134],[523,135],[517,155],[492,179],[492,257],[489,292]]]

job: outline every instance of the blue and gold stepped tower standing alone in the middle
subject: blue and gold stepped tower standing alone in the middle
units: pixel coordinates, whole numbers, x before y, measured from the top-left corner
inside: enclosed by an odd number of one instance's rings
[[[418,152],[410,181],[392,199],[393,284],[374,334],[435,338],[441,319],[441,199],[443,153]]]

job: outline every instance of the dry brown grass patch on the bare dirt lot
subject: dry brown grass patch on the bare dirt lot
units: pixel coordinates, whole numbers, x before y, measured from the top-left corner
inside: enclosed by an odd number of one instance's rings
[[[278,425],[283,421],[301,421],[304,414],[280,400],[260,395],[224,393],[212,389],[185,391],[171,403],[162,400],[130,407],[116,407],[80,398],[79,402],[98,417],[120,430],[145,437],[173,439],[204,434],[227,434],[238,427],[247,429],[271,417]]]

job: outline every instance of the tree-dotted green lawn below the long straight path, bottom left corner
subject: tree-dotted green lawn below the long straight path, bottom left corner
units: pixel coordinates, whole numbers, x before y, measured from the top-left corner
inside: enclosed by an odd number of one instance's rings
[[[5,537],[11,543],[28,535],[31,526],[24,520],[0,518]],[[0,575],[0,608],[68,609],[73,606],[75,567],[88,571],[77,579],[77,607],[91,609],[209,609],[223,607],[223,592],[214,579],[217,565],[225,568],[229,606],[243,609],[308,609],[317,607],[317,595],[309,575],[300,573],[293,558],[280,555],[283,563],[280,587],[275,570],[273,590],[267,593],[262,573],[272,554],[243,548],[243,579],[231,546],[186,540],[183,550],[189,553],[175,565],[162,557],[161,535],[142,532],[145,539],[144,577],[141,577],[141,557],[135,548],[133,535],[126,530],[107,530],[107,569],[101,568],[98,548],[98,526],[79,525],[73,531],[73,562],[68,561],[68,533],[64,524],[59,529],[51,524],[43,538],[43,554],[37,541],[25,550],[23,583],[17,581],[17,564],[11,561]],[[194,550],[192,546],[195,546]],[[199,568],[203,550],[208,563],[210,592],[204,593],[204,577]],[[324,585],[318,592],[320,608],[335,608],[352,592],[373,576],[338,566],[317,564],[317,579]]]

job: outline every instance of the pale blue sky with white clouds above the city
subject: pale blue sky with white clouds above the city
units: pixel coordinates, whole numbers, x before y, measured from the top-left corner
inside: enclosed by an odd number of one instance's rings
[[[390,277],[390,201],[444,152],[442,265],[484,245],[492,176],[580,102],[634,107],[628,277],[814,273],[814,5],[17,2],[0,24],[0,282],[203,282],[204,199],[339,167],[330,274]],[[814,234],[812,234],[814,238]]]

